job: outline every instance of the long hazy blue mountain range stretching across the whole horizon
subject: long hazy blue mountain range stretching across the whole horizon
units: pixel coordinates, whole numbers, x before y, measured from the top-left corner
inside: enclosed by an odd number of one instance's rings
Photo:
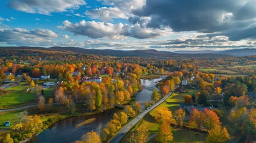
[[[72,54],[95,54],[95,55],[110,55],[117,57],[152,57],[152,58],[216,58],[216,57],[229,57],[229,56],[246,56],[256,55],[256,49],[232,49],[227,51],[157,51],[155,49],[137,49],[133,51],[114,50],[114,49],[87,49],[76,47],[59,47],[54,46],[51,48],[43,47],[30,47],[30,46],[7,46],[0,47],[0,49],[40,49],[43,51],[61,51]],[[1,55],[1,53],[0,53]]]

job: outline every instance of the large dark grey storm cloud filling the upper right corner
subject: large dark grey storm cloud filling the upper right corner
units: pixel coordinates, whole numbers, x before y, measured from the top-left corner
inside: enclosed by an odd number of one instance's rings
[[[151,17],[147,27],[171,27],[174,32],[218,32],[230,40],[255,39],[256,1],[254,0],[147,0],[133,10],[137,18]],[[137,20],[140,21],[140,20]],[[254,32],[248,33],[254,30]],[[238,32],[234,37],[234,33]]]

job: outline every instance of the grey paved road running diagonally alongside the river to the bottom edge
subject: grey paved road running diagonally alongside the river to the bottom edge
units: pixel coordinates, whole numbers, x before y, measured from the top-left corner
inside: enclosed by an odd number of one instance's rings
[[[172,92],[170,92],[168,95],[166,95],[166,97],[163,98],[162,100],[156,102],[156,104],[152,105],[152,107],[150,107],[150,109],[144,110],[141,114],[139,114],[137,117],[135,117],[133,120],[131,120],[131,122],[129,122],[127,125],[125,125],[124,128],[119,130],[119,132],[117,132],[116,135],[113,136],[113,138],[111,138],[109,140],[109,143],[120,142],[121,138],[125,135],[125,133],[127,133],[140,119],[142,119],[147,113],[149,113],[151,110],[153,110],[153,108],[158,107],[158,105],[160,105],[162,102],[164,102],[165,99],[171,95],[172,95]]]

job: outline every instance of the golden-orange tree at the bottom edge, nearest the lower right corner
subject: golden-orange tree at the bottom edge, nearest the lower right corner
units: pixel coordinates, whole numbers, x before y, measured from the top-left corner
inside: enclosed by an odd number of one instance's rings
[[[225,143],[229,141],[229,133],[225,127],[221,128],[220,125],[215,125],[214,128],[208,130],[208,136],[206,136],[206,142],[209,143]]]

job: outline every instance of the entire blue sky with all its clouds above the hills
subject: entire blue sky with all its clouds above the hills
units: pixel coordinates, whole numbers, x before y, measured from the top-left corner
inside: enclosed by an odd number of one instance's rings
[[[256,48],[256,0],[1,0],[0,46]]]

